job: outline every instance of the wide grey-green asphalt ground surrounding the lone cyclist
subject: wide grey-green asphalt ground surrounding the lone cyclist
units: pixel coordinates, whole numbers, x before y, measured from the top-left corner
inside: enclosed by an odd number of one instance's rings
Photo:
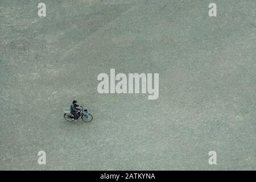
[[[0,2],[1,170],[256,169],[255,1],[40,2]],[[110,68],[159,73],[158,100],[99,94]]]

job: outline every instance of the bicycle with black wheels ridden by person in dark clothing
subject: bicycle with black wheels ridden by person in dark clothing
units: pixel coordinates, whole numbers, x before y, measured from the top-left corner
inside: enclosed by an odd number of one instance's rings
[[[82,107],[82,106],[81,106]],[[89,110],[88,109],[83,109],[82,108],[82,110],[79,112],[79,117],[78,118],[82,118],[82,120],[84,121],[84,122],[90,122],[90,121],[92,121],[92,119],[93,119],[93,116],[92,116],[92,114],[89,114]],[[71,112],[70,112],[70,109],[69,108],[64,108],[64,118],[65,118],[65,120],[67,120],[67,121],[73,121],[73,118],[75,118],[75,115],[74,114],[72,114]],[[77,118],[77,119],[78,119]]]

